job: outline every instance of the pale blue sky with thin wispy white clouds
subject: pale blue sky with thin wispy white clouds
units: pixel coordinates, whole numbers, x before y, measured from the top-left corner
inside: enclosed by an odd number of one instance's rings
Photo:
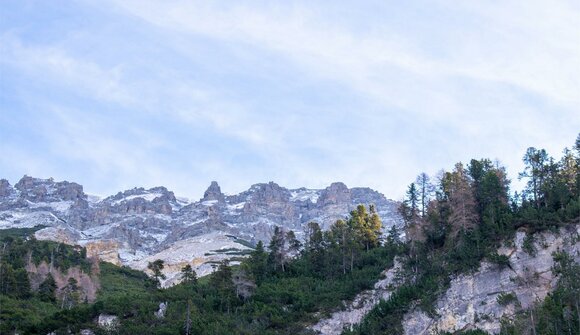
[[[2,0],[0,178],[200,198],[420,172],[580,131],[580,2]]]

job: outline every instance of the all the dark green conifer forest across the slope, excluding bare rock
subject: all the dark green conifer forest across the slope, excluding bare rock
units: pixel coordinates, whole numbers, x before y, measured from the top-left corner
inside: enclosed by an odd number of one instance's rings
[[[411,308],[436,315],[454,276],[476,271],[484,259],[509,266],[497,249],[516,231],[526,232],[533,253],[536,234],[580,224],[580,135],[559,159],[529,148],[523,162],[523,190],[510,188],[499,162],[457,163],[409,185],[400,206],[404,230],[382,233],[375,208],[361,205],[329,230],[308,224],[304,240],[277,227],[268,244],[259,242],[239,265],[216,264],[211,275],[198,278],[185,266],[182,282],[169,288],[159,285],[161,260],[149,264],[148,276],[87,259],[78,246],[38,241],[34,229],[1,230],[0,334],[313,334],[309,325],[372,288],[396,257],[401,284],[344,334],[402,334]],[[553,257],[555,290],[505,320],[502,334],[580,334],[580,265],[574,255]],[[42,266],[79,275],[40,281],[32,269]],[[94,296],[86,293],[91,285]],[[155,316],[161,302],[167,310]],[[97,327],[102,314],[117,316],[117,324]]]

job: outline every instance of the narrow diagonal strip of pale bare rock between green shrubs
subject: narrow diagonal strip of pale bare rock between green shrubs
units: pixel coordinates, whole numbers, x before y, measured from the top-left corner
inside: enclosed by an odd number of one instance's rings
[[[391,296],[397,285],[396,278],[400,267],[401,263],[395,260],[394,266],[383,273],[384,279],[376,282],[372,290],[360,293],[343,311],[333,313],[331,317],[318,321],[310,328],[318,334],[339,335],[345,328],[351,329],[360,323],[381,299],[386,300]]]

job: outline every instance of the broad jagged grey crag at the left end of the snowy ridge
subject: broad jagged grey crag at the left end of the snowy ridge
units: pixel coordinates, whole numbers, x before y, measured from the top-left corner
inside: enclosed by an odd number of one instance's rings
[[[24,176],[14,187],[21,197],[33,202],[77,201],[87,198],[82,185],[68,181],[55,182],[54,179],[40,179]]]

